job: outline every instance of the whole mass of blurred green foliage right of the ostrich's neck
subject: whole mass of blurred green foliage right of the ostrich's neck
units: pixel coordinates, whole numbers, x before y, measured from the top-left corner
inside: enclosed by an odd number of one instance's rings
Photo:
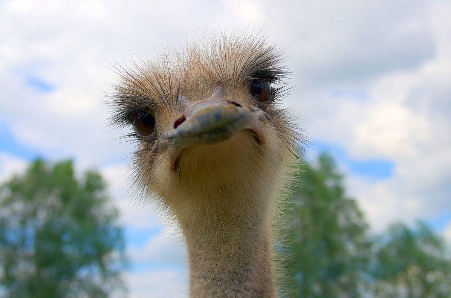
[[[450,249],[426,224],[372,236],[330,156],[299,166],[288,230],[292,298],[451,297]]]

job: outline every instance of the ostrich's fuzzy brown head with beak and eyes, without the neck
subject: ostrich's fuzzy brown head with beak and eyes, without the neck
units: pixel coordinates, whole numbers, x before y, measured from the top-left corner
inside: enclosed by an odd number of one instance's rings
[[[249,36],[187,49],[118,68],[111,120],[138,139],[134,186],[172,205],[190,192],[274,183],[299,139],[276,106],[287,73],[281,53]]]

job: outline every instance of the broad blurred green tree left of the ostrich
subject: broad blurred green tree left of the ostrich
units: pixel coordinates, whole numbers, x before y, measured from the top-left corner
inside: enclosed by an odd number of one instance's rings
[[[80,182],[72,161],[39,159],[0,186],[0,297],[124,293],[124,240],[104,189],[96,172]]]

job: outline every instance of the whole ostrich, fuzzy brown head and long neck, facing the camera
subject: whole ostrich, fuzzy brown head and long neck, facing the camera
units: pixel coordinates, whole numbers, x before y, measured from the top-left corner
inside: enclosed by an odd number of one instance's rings
[[[116,67],[111,123],[137,138],[133,187],[179,226],[190,298],[275,298],[273,230],[303,137],[283,53],[253,33],[189,41]]]

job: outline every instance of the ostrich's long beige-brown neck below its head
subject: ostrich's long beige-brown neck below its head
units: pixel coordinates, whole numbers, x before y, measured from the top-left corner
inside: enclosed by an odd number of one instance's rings
[[[275,298],[268,194],[193,197],[180,220],[187,241],[190,298]],[[186,213],[185,213],[186,214]]]

